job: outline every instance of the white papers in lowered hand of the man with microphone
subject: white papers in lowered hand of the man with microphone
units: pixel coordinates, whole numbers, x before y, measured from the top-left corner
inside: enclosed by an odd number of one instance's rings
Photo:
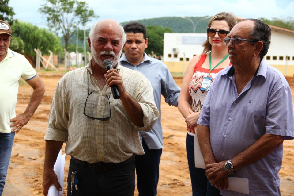
[[[58,157],[54,164],[54,171],[57,175],[58,182],[62,187],[62,191],[58,191],[54,184],[49,187],[48,196],[62,196],[63,193],[63,176],[64,176],[64,162],[65,162],[65,154],[61,155],[61,150],[59,151]]]

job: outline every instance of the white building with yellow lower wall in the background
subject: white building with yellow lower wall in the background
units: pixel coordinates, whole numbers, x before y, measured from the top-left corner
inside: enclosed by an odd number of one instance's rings
[[[271,44],[264,57],[285,76],[294,73],[294,31],[271,26]],[[163,59],[171,72],[185,72],[191,58],[200,54],[206,33],[164,33]]]

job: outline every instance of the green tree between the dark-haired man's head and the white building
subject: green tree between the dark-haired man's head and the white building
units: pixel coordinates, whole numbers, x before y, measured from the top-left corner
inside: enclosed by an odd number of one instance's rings
[[[157,56],[163,55],[163,38],[164,33],[172,33],[168,27],[160,27],[155,25],[146,26],[148,48],[145,49],[147,54],[154,52]]]

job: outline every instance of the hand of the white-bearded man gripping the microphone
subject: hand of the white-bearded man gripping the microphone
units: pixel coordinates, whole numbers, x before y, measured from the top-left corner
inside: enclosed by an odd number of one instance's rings
[[[104,74],[105,81],[107,82],[107,87],[116,85],[119,90],[119,95],[122,97],[126,93],[125,86],[123,85],[123,78],[119,75],[116,69],[110,69]]]

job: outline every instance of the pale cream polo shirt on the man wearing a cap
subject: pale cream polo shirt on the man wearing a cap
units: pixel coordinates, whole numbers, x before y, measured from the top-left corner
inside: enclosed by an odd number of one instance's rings
[[[37,75],[25,56],[8,48],[0,62],[0,132],[10,133],[10,119],[16,116],[18,80],[33,79]]]

